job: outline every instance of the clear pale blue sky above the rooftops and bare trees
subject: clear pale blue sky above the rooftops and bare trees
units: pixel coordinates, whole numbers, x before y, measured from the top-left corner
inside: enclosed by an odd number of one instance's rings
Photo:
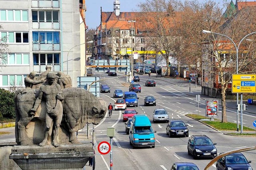
[[[182,1],[184,2],[185,0]],[[225,0],[216,0],[216,2],[220,3],[223,3],[223,1]],[[227,1],[231,2],[231,0]],[[145,0],[119,0],[119,2],[120,12],[132,12],[139,10],[137,4],[139,4],[139,2],[145,2]],[[235,0],[233,0],[233,2],[235,3]],[[103,12],[113,12],[113,4],[114,0],[86,0],[86,25],[89,29],[96,29],[100,25],[100,7],[102,7]]]

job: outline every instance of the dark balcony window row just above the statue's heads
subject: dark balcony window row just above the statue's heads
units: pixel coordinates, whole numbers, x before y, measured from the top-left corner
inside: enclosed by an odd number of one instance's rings
[[[59,53],[47,53],[47,54],[34,53],[33,64],[34,65],[60,64],[60,54]]]

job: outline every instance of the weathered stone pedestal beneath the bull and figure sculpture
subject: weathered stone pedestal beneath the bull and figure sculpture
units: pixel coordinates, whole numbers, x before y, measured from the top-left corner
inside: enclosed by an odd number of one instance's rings
[[[81,170],[94,156],[91,143],[54,147],[14,146],[9,156],[22,170]]]

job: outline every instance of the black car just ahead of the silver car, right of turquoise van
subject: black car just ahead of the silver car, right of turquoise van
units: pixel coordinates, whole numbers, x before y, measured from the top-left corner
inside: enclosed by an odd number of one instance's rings
[[[182,120],[170,120],[166,125],[166,134],[172,136],[186,136],[189,132],[187,125]]]

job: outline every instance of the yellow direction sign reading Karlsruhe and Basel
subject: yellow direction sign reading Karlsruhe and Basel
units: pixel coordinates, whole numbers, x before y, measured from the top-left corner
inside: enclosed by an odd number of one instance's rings
[[[232,74],[232,93],[256,93],[256,74]]]

